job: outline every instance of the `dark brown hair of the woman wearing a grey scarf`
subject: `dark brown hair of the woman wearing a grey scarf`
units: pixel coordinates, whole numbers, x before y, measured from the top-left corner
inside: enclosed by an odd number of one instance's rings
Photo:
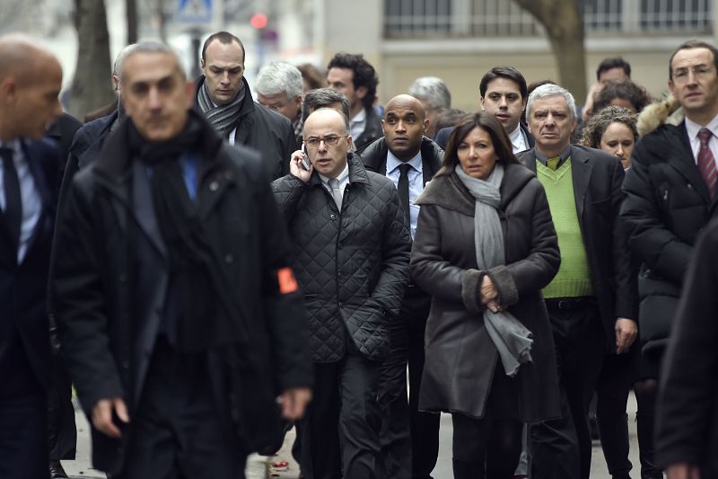
[[[477,111],[476,113],[468,113],[457,122],[456,128],[451,132],[451,137],[449,137],[449,143],[446,145],[442,168],[436,172],[436,176],[450,173],[453,166],[459,164],[459,145],[475,128],[483,129],[491,137],[491,143],[498,158],[497,163],[520,164],[516,155],[513,155],[511,140],[499,120],[496,120],[494,115],[490,115],[485,111]]]

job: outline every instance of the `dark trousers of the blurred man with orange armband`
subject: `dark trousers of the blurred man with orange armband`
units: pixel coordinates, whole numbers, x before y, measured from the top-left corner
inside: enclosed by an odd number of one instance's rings
[[[223,428],[206,354],[161,337],[133,417],[122,479],[237,479],[247,455]]]

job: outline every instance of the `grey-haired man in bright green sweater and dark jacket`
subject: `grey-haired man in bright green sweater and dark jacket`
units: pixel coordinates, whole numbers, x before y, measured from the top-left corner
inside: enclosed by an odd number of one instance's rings
[[[556,342],[562,416],[531,428],[536,479],[588,479],[588,408],[604,351],[635,340],[635,286],[618,208],[624,171],[617,158],[572,146],[574,97],[555,84],[529,97],[536,146],[517,155],[547,192],[561,267],[543,290]]]

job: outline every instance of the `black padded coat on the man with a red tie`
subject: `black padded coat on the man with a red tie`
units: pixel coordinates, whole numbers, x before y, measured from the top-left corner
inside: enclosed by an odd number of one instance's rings
[[[708,195],[685,123],[661,125],[636,144],[624,191],[621,216],[631,250],[643,262],[641,340],[645,351],[660,352],[670,336],[696,237],[718,217],[718,196]]]

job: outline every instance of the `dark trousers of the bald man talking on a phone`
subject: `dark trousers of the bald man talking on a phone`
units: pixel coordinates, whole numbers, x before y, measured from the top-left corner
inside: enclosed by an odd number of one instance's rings
[[[365,359],[356,348],[338,362],[314,365],[314,394],[298,423],[306,479],[384,477],[380,374],[381,362]]]

